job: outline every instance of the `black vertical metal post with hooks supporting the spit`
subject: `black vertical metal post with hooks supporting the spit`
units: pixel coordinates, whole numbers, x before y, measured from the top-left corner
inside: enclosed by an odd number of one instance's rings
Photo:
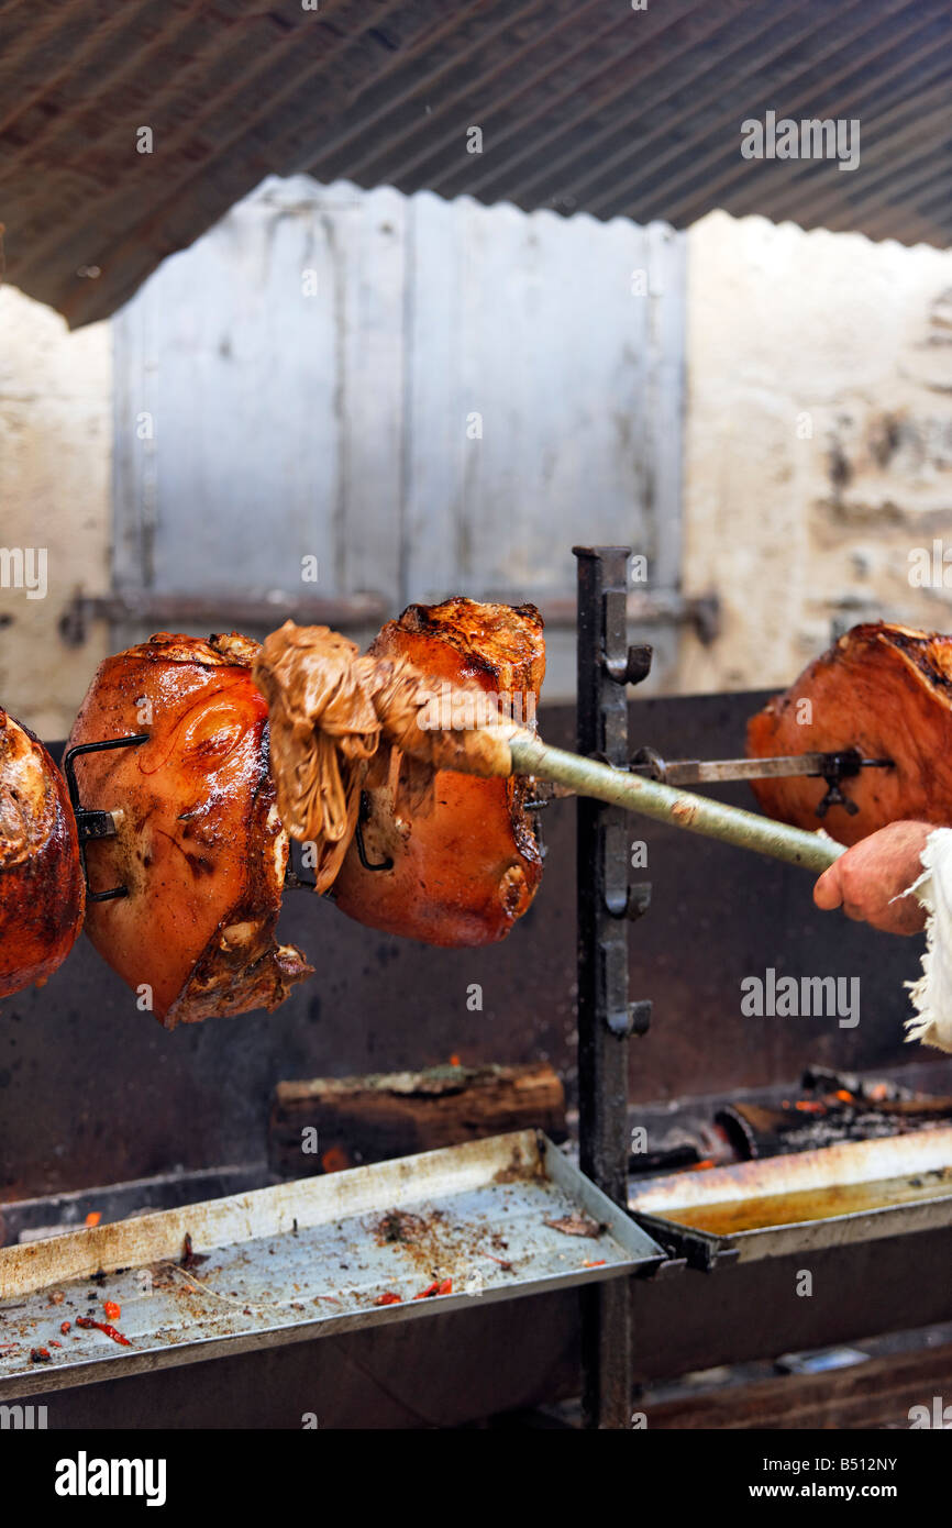
[[[628,767],[625,685],[642,678],[649,651],[628,651],[627,547],[573,547],[578,558],[578,752]],[[630,825],[625,811],[579,798],[579,1161],[616,1204],[628,1203]],[[630,1426],[631,1316],[627,1279],[582,1291],[587,1427]]]

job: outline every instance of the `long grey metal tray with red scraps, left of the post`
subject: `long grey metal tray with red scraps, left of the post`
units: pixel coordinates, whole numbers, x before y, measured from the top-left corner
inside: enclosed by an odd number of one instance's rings
[[[602,1229],[550,1224],[573,1216]],[[547,1137],[518,1131],[0,1248],[0,1398],[620,1277],[663,1258]],[[377,1303],[384,1294],[399,1303]],[[108,1322],[107,1300],[128,1346],[76,1326]],[[41,1348],[49,1361],[31,1358]]]

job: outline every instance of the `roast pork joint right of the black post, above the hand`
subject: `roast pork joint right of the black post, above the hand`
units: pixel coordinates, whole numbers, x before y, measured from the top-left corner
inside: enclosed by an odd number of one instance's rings
[[[847,749],[894,767],[844,781],[859,811],[830,807],[822,827],[831,837],[856,843],[902,817],[952,824],[952,637],[888,622],[854,626],[747,724],[750,758]],[[822,779],[752,785],[769,816],[821,827]]]

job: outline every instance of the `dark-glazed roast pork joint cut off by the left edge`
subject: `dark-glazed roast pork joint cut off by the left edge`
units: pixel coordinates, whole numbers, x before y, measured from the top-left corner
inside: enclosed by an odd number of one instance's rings
[[[83,927],[83,869],[66,781],[0,711],[0,998],[44,983]]]

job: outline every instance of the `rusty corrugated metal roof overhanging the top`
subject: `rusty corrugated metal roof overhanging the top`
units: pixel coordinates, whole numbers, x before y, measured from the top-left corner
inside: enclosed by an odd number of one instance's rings
[[[952,243],[947,0],[304,3],[0,0],[8,280],[101,318],[272,171]],[[859,168],[744,159],[770,110],[859,119]]]

